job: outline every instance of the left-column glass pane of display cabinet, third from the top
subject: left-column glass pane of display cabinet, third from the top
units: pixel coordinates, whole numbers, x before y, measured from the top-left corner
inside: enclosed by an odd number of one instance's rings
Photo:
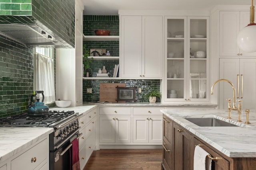
[[[184,60],[167,60],[167,78],[184,78]]]

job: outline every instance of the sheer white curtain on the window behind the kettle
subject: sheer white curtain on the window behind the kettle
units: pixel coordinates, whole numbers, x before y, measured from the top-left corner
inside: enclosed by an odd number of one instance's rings
[[[36,53],[34,57],[35,90],[44,91],[44,103],[55,102],[54,60]],[[42,101],[42,94],[39,94]]]

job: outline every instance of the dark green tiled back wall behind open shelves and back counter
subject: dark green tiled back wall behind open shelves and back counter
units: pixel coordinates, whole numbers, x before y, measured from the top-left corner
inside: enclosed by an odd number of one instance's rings
[[[118,16],[84,16],[84,35],[95,35],[96,29],[108,29],[110,35],[119,35]],[[119,56],[119,41],[84,41],[83,44],[89,49],[106,49],[112,56]],[[115,64],[119,61],[92,61],[93,77],[96,76],[99,68],[106,66],[106,70],[113,75]],[[100,83],[126,83],[127,87],[136,87],[137,102],[148,102],[145,94],[158,90],[160,91],[160,80],[83,80],[83,102],[96,102],[100,99]],[[92,88],[92,94],[86,93],[86,88]],[[138,88],[142,88],[142,93],[138,94]],[[160,102],[158,99],[157,102]]]

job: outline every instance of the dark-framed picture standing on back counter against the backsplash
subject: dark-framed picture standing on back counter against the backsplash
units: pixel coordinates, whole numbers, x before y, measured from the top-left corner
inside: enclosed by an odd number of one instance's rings
[[[136,101],[135,87],[117,87],[118,101]]]

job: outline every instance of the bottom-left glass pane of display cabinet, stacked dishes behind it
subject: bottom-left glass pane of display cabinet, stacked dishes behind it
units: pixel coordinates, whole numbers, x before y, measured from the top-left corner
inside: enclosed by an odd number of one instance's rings
[[[184,80],[167,80],[167,98],[184,98]]]

